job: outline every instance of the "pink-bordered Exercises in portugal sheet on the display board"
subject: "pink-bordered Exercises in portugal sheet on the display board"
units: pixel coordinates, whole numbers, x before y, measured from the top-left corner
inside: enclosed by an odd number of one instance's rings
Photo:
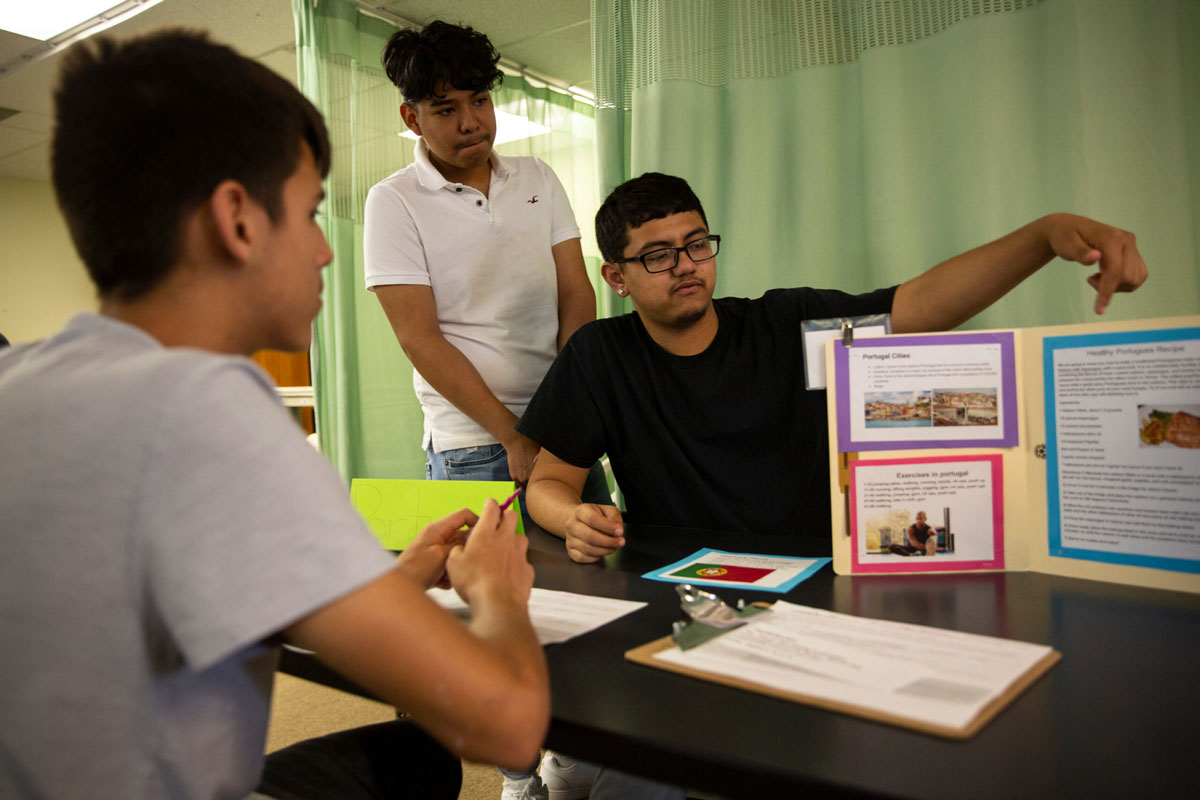
[[[850,464],[854,572],[1003,570],[998,455]]]

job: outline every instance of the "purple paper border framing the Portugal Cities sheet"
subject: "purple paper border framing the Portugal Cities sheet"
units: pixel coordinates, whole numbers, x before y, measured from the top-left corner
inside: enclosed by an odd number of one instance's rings
[[[870,339],[856,339],[854,348],[878,347],[932,347],[947,344],[1000,344],[1000,375],[1002,404],[1004,408],[1002,438],[990,439],[934,439],[918,441],[854,441],[850,434],[850,356],[848,348],[834,344],[834,391],[838,404],[838,452],[859,452],[863,450],[931,450],[950,447],[1015,447],[1016,432],[1016,355],[1013,348],[1013,332],[995,333],[941,333],[938,336],[888,336]]]

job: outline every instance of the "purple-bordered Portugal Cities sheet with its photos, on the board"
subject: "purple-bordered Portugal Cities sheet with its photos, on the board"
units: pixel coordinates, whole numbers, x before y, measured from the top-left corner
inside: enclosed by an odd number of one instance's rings
[[[838,449],[1016,444],[1012,333],[834,343]]]

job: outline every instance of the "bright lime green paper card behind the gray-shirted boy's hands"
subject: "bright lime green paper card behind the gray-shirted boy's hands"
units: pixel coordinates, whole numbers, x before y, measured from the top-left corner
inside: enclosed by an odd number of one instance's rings
[[[479,513],[484,500],[504,503],[516,485],[512,481],[422,481],[382,477],[355,477],[350,481],[350,501],[379,543],[389,551],[402,551],[416,533],[434,519],[470,509]],[[521,498],[512,509],[521,510]],[[517,534],[524,535],[524,523],[517,517]]]

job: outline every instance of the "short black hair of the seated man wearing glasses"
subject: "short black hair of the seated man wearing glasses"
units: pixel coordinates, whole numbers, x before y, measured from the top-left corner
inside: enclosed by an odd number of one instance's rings
[[[700,212],[700,218],[708,224],[700,198],[684,179],[662,173],[630,179],[614,188],[596,211],[600,253],[606,261],[616,261],[625,255],[631,228],[686,211]]]

